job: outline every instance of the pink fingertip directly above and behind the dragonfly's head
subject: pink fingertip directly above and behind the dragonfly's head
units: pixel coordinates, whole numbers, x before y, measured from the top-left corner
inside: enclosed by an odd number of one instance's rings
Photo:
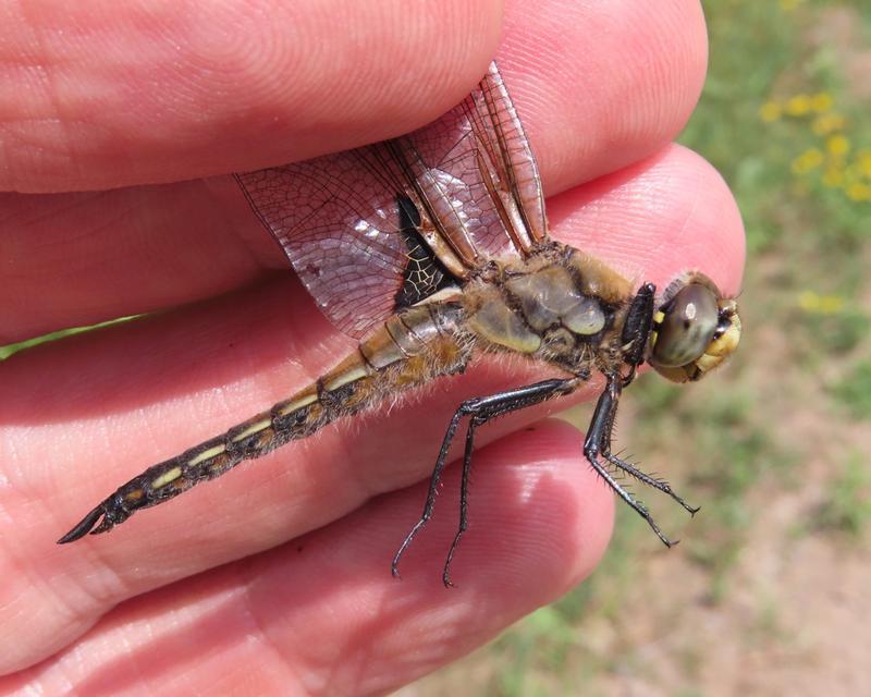
[[[554,236],[662,288],[699,269],[725,293],[740,289],[745,235],[720,173],[668,145],[651,157],[549,201]]]

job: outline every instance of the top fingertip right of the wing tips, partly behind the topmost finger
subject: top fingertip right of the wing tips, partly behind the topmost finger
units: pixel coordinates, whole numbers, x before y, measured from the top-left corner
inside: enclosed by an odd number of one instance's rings
[[[662,148],[708,65],[698,0],[515,0],[498,53],[549,196]]]

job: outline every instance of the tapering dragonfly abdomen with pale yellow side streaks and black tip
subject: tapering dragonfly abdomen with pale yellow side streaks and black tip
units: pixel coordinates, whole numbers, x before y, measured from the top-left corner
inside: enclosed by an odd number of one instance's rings
[[[391,317],[335,368],[268,412],[134,477],[90,511],[59,542],[110,530],[135,511],[214,479],[327,424],[378,404],[387,395],[462,370],[468,340],[457,341],[459,303],[419,305]]]

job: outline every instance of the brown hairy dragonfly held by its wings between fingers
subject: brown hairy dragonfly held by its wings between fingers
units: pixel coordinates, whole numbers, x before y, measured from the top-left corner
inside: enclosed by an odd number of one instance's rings
[[[357,340],[334,368],[290,399],[156,464],[111,493],[59,543],[107,533],[243,461],[436,378],[482,355],[514,354],[552,378],[458,405],[436,457],[424,511],[391,565],[431,518],[454,438],[466,423],[461,517],[444,562],[468,528],[477,429],[604,377],[584,456],[666,546],[648,509],[621,481],[657,489],[691,514],[663,479],[612,451],[623,390],[647,362],[695,381],[738,345],[736,301],[687,270],[661,294],[548,234],[541,179],[495,63],[459,105],[408,135],[235,175],[252,209],[333,325]]]

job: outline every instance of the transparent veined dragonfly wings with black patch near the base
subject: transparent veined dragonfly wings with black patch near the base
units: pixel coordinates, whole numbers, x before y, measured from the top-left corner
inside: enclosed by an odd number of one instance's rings
[[[407,136],[236,180],[319,307],[356,338],[408,302],[413,267],[462,282],[547,236],[538,169],[495,64]],[[415,285],[414,301],[441,285]]]

